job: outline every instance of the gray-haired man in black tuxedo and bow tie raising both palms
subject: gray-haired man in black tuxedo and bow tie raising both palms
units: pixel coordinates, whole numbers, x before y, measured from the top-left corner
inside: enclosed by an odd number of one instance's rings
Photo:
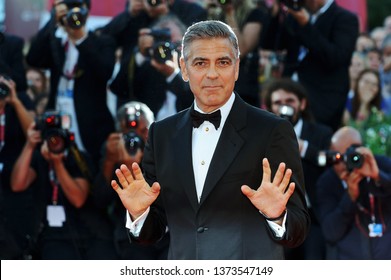
[[[150,126],[144,174],[121,165],[111,182],[130,236],[151,243],[169,230],[169,259],[283,259],[310,224],[292,125],[233,93],[240,51],[228,25],[195,23],[182,50],[192,107]]]

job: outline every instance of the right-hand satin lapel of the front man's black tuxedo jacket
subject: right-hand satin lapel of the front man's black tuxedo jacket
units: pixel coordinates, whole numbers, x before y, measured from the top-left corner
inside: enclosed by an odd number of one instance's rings
[[[245,126],[245,123],[246,105],[244,101],[236,95],[235,102],[224,124],[223,131],[221,132],[220,139],[209,166],[200,204],[205,201],[206,197],[216,186],[217,182],[224,175],[225,171],[244,145],[244,140],[239,134],[239,131]]]

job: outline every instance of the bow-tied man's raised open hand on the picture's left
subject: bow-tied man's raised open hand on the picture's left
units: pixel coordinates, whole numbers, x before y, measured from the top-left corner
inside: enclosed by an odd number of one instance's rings
[[[160,193],[160,185],[155,182],[150,187],[137,163],[132,164],[132,171],[122,164],[119,169],[115,170],[115,174],[119,184],[116,180],[112,180],[111,186],[117,192],[132,219],[135,220],[156,200]]]

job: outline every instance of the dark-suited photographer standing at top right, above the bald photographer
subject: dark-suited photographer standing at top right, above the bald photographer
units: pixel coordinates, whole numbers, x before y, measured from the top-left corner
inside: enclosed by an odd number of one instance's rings
[[[286,51],[283,75],[304,85],[316,121],[335,131],[349,92],[358,18],[334,0],[303,2],[300,9],[275,4],[262,47]]]

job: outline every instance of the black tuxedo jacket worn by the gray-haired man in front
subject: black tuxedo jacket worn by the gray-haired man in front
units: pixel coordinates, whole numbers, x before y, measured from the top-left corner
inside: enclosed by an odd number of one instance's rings
[[[283,246],[298,246],[309,228],[298,145],[286,120],[252,107],[238,95],[223,127],[200,202],[192,166],[190,110],[154,123],[143,169],[161,193],[151,207],[140,242],[170,231],[170,259],[282,259]],[[264,217],[241,192],[262,181],[262,159],[274,172],[280,162],[293,170],[296,189],[287,208],[286,234],[274,236]]]

